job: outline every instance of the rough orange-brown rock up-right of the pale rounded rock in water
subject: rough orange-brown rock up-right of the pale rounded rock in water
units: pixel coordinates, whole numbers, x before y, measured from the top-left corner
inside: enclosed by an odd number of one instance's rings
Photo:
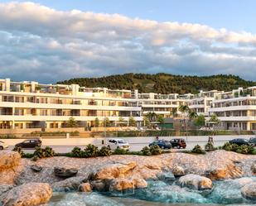
[[[224,168],[207,171],[206,175],[210,180],[228,180],[240,178],[243,172],[236,165],[227,165]]]

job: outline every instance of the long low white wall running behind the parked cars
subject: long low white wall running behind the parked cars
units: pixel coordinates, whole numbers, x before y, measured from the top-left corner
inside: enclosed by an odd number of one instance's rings
[[[246,138],[249,139],[253,137],[251,135],[237,135],[237,136],[214,136],[214,141],[225,142],[232,140],[234,138]],[[177,137],[159,137],[159,139],[164,139],[170,141]],[[208,141],[207,136],[189,136],[189,137],[178,137],[184,138],[187,142],[205,142]],[[88,144],[94,144],[96,146],[102,145],[102,141],[106,142],[109,138],[42,138],[43,146],[85,146]],[[152,141],[156,140],[156,137],[123,137],[125,141],[128,141],[130,144],[149,144]],[[9,146],[14,146],[18,142],[24,141],[25,139],[4,139]]]

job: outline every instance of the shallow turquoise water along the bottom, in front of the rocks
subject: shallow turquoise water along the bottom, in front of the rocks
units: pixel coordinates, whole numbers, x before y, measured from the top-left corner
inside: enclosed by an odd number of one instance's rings
[[[244,199],[240,189],[256,178],[215,181],[211,190],[181,188],[176,182],[149,181],[147,189],[126,193],[54,193],[47,206],[220,206],[256,205]]]

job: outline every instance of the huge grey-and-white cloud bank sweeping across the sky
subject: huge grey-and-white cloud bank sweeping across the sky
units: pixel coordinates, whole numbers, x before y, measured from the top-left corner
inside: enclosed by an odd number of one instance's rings
[[[1,78],[54,83],[127,72],[255,79],[256,35],[118,14],[0,3]]]

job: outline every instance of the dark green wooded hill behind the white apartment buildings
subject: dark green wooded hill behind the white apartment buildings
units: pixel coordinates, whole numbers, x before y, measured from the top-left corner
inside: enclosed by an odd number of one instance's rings
[[[75,78],[57,84],[79,84],[85,87],[109,89],[138,89],[140,93],[198,93],[200,90],[230,91],[239,87],[255,86],[235,75],[182,76],[173,74],[117,74],[100,78]]]

